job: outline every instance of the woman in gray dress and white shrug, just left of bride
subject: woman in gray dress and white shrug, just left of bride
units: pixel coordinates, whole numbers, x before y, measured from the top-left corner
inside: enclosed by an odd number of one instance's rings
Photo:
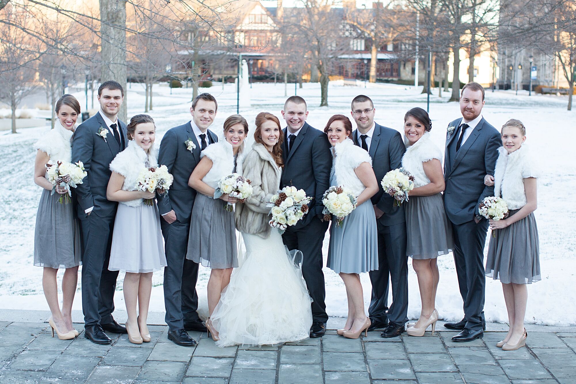
[[[246,119],[240,115],[229,116],[224,121],[225,140],[202,151],[200,162],[188,180],[188,185],[199,193],[194,200],[186,258],[211,268],[206,328],[214,341],[218,340],[218,333],[213,330],[210,316],[220,301],[222,290],[230,282],[232,269],[238,267],[234,212],[224,209],[226,204],[237,203],[238,199],[226,193],[216,199],[214,191],[223,177],[236,172],[247,134]]]

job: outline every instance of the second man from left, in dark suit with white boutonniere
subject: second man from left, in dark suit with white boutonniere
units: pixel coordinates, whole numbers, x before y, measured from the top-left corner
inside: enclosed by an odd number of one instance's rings
[[[206,332],[198,317],[198,263],[188,260],[186,248],[190,234],[190,217],[196,191],[188,187],[192,170],[200,162],[200,152],[218,137],[208,127],[214,122],[218,104],[210,93],[202,93],[192,101],[192,120],[166,132],[160,143],[158,164],[168,167],[174,177],[165,196],[157,196],[162,216],[166,264],[164,268],[164,303],[168,339],[178,345],[196,345],[186,332]]]

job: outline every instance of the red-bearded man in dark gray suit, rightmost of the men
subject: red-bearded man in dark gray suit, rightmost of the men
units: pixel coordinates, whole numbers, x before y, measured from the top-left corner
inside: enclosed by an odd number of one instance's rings
[[[444,206],[452,222],[454,264],[460,295],[464,300],[464,318],[447,322],[449,329],[461,330],[453,341],[471,341],[482,337],[484,320],[484,243],[488,220],[480,216],[478,204],[494,196],[494,187],[484,185],[484,176],[494,174],[500,134],[482,117],[484,88],[471,82],[460,96],[461,118],[448,126],[444,154]]]

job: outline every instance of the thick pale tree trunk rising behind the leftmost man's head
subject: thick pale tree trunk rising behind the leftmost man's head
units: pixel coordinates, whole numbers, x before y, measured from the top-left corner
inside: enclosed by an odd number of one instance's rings
[[[126,1],[100,0],[100,18],[102,80],[115,80],[124,88],[124,101],[118,118],[126,121]]]

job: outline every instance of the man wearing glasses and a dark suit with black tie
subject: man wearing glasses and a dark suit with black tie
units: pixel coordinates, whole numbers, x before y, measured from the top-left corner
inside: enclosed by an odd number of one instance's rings
[[[368,330],[385,328],[382,337],[399,336],[408,321],[408,257],[404,207],[394,207],[394,199],[384,193],[380,180],[392,169],[400,168],[406,151],[400,133],[374,122],[376,108],[369,97],[352,100],[351,115],[357,129],[354,143],[368,151],[380,190],[372,196],[378,228],[378,270],[370,271],[372,300],[368,309],[372,325]],[[392,282],[392,304],[388,308],[388,282]]]

